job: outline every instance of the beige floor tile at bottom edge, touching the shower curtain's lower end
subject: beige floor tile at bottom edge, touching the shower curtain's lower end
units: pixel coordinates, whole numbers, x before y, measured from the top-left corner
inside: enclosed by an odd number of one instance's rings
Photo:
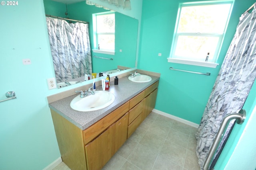
[[[196,152],[187,150],[184,168],[189,169],[189,170],[200,170]]]

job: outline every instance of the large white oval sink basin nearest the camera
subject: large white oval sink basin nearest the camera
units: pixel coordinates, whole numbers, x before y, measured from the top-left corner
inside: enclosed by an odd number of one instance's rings
[[[94,111],[108,107],[114,100],[115,96],[110,92],[95,91],[95,94],[84,98],[80,98],[79,94],[70,102],[70,107],[77,111]]]

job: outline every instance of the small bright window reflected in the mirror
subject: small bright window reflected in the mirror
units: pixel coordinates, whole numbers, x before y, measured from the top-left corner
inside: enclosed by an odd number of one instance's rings
[[[99,13],[95,14],[94,18],[96,23],[94,49],[115,51],[115,14]]]

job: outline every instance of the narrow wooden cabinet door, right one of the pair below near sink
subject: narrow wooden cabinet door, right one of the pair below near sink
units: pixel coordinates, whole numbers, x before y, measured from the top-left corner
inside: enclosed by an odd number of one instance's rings
[[[127,140],[128,112],[112,125],[112,156]]]

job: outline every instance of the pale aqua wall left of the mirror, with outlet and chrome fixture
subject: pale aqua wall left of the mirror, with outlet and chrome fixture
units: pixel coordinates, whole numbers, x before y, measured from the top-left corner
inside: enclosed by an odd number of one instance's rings
[[[0,6],[0,169],[42,170],[60,157],[46,96],[54,77],[43,1]],[[22,59],[31,59],[23,65]]]

